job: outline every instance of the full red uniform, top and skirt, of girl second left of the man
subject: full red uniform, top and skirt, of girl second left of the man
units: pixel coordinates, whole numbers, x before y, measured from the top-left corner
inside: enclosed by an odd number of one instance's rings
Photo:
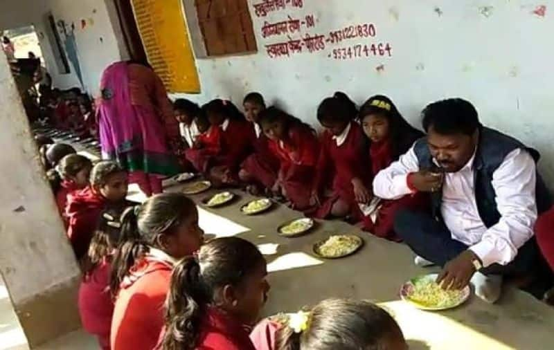
[[[364,131],[357,122],[350,122],[341,136],[334,137],[330,131],[323,131],[315,189],[323,194],[325,188],[330,187],[332,194],[324,199],[315,217],[320,219],[328,217],[333,203],[338,199],[350,205],[351,215],[361,217],[354,196],[352,179],[359,178],[370,190],[371,176],[364,161],[367,159],[364,152],[365,145]],[[330,186],[328,186],[329,183]]]

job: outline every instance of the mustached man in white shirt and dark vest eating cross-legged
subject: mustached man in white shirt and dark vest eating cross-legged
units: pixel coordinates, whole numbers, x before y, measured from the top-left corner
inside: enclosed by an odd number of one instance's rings
[[[416,264],[443,266],[443,288],[471,281],[476,295],[496,302],[503,275],[529,273],[537,261],[537,205],[539,212],[550,205],[539,155],[483,127],[465,100],[435,102],[422,114],[427,138],[379,172],[373,192],[384,199],[431,192],[432,214],[401,211],[395,231],[418,255]]]

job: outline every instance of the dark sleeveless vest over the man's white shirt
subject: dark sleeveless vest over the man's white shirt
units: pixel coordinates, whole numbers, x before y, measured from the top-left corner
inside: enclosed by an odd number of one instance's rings
[[[479,132],[479,145],[473,163],[474,169],[474,191],[477,210],[485,226],[490,228],[500,220],[500,213],[497,209],[496,193],[492,187],[492,174],[503,163],[504,158],[515,149],[525,149],[529,152],[535,163],[539,161],[540,154],[535,149],[526,147],[515,138],[504,135],[499,131],[482,127]],[[434,167],[433,157],[427,146],[427,138],[420,138],[413,147],[415,156],[418,157],[420,169]],[[441,193],[441,192],[439,192]],[[551,207],[551,196],[548,188],[537,172],[537,185],[535,187],[535,198],[539,214]],[[440,205],[442,196],[431,196],[431,208],[433,216],[440,217]]]

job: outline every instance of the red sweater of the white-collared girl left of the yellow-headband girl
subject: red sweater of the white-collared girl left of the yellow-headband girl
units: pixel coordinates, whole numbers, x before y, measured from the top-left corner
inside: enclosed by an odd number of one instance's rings
[[[370,187],[371,176],[365,161],[367,156],[364,154],[364,145],[364,131],[357,122],[350,122],[346,140],[340,146],[328,130],[323,131],[316,189],[323,191],[325,185],[332,181],[334,191],[354,199],[352,178],[359,178],[366,187]]]

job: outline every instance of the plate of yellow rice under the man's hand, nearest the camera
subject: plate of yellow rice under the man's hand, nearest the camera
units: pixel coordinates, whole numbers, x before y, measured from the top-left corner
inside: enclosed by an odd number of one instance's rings
[[[460,306],[470,297],[470,286],[459,291],[445,291],[436,283],[437,277],[436,273],[431,273],[410,279],[400,288],[400,298],[421,310],[439,311]]]

